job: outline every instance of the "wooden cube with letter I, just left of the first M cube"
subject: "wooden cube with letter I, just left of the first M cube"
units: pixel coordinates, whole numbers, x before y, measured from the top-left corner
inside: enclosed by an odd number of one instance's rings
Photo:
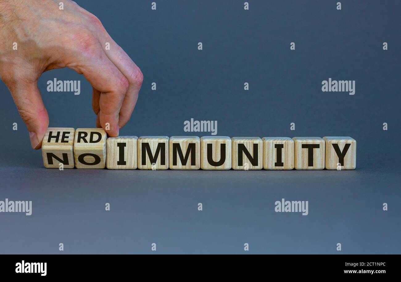
[[[109,170],[138,168],[137,136],[109,137],[106,141],[106,167]]]

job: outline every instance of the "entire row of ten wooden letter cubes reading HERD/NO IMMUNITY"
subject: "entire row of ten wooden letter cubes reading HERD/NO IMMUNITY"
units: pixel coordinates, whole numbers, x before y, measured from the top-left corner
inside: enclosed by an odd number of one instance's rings
[[[99,128],[49,128],[45,168],[111,170],[354,170],[351,137],[119,136]]]

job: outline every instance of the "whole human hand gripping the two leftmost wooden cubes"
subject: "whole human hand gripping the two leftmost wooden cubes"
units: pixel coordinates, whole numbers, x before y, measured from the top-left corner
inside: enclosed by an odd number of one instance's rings
[[[96,126],[112,137],[129,120],[143,75],[99,19],[70,0],[0,0],[0,77],[39,149],[49,116],[37,82],[43,72],[69,67],[93,87]],[[105,44],[110,44],[105,50]],[[17,43],[17,49],[13,44]]]

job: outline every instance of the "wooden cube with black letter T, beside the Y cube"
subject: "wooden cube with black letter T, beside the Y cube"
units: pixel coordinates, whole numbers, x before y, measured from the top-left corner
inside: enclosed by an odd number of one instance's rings
[[[324,140],[320,137],[294,137],[296,170],[324,169]]]

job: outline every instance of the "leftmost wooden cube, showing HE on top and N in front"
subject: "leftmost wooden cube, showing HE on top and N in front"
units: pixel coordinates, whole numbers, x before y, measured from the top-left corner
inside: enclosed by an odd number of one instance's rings
[[[74,168],[75,129],[49,127],[42,141],[42,157],[45,168]]]

